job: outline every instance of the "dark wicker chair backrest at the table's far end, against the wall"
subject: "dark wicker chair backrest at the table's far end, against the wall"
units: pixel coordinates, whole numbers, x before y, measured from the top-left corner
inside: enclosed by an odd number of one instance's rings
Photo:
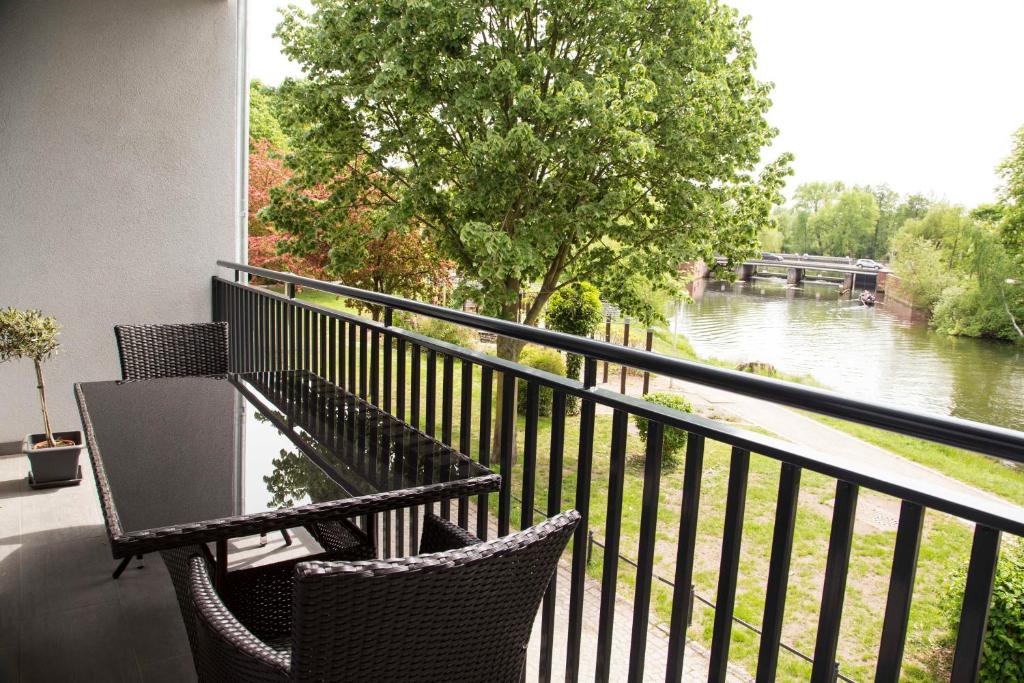
[[[227,323],[116,325],[114,336],[124,380],[227,372]]]

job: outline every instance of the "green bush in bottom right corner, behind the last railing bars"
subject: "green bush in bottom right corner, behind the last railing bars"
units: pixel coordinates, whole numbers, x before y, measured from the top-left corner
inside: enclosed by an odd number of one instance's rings
[[[953,638],[959,626],[966,578],[966,567],[955,571],[941,602]],[[995,570],[978,680],[1024,681],[1024,547],[1019,543],[1004,546]]]

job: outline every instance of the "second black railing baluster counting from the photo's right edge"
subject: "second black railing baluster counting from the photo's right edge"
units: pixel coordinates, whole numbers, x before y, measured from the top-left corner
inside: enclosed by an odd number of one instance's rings
[[[899,511],[899,526],[896,529],[896,548],[893,551],[893,568],[889,578],[886,616],[882,623],[882,644],[879,647],[879,661],[874,670],[874,680],[882,683],[886,681],[896,683],[899,680],[924,524],[925,508],[916,503],[903,501]]]

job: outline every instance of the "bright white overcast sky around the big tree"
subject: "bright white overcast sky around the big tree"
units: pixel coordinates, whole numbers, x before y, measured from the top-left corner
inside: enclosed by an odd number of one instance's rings
[[[305,0],[292,0],[308,7]],[[249,75],[301,72],[271,37],[285,0],[249,3]],[[730,0],[752,17],[758,75],[775,83],[768,155],[801,182],[887,182],[974,206],[1024,125],[1024,0]]]

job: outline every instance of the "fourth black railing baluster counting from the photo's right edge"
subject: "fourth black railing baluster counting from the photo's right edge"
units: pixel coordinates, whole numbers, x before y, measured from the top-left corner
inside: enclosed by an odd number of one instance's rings
[[[778,646],[782,638],[785,594],[790,585],[790,558],[793,530],[800,501],[800,468],[782,463],[775,503],[775,528],[772,533],[771,559],[768,564],[768,588],[761,621],[761,648],[758,653],[758,680],[774,681],[778,668]]]

